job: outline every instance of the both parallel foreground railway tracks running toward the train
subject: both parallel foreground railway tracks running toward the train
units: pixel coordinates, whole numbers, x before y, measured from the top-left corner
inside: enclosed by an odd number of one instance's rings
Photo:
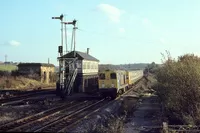
[[[138,82],[135,83],[135,85],[137,85]],[[129,89],[126,93],[130,92],[131,90],[133,90],[133,88]],[[120,96],[117,99],[119,98]],[[66,132],[68,129],[70,129],[70,127],[73,127],[75,123],[81,119],[84,119],[85,116],[91,115],[102,108],[102,106],[107,106],[112,102],[109,102],[108,99],[77,103],[73,101],[29,117],[6,123],[0,126],[0,131]]]

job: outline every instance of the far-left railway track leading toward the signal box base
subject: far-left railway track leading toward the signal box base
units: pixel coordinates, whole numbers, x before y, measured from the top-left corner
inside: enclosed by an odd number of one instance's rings
[[[23,100],[30,99],[31,97],[45,95],[45,94],[55,94],[55,90],[32,92],[32,93],[28,93],[28,94],[24,94],[24,95],[20,95],[20,96],[2,99],[2,100],[0,100],[0,105],[5,106],[5,105],[9,105],[9,104],[19,103],[19,102],[22,102]]]

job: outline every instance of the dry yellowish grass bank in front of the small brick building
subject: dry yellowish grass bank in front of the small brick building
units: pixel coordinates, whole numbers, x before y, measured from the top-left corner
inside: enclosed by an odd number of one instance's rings
[[[41,83],[40,81],[24,77],[1,77],[0,89],[38,89],[39,87],[55,86],[55,83]]]

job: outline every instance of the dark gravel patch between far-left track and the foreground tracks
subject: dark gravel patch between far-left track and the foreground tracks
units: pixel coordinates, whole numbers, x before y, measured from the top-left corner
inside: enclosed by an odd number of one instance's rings
[[[24,118],[62,104],[57,97],[26,101],[22,105],[0,106],[0,124]]]

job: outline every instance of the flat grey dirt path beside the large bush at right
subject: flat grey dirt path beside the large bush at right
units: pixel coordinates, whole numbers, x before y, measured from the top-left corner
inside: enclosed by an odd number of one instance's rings
[[[145,126],[161,126],[161,105],[156,95],[144,96],[140,99],[133,116],[124,125],[125,133],[150,132]],[[158,131],[156,131],[158,132]]]

